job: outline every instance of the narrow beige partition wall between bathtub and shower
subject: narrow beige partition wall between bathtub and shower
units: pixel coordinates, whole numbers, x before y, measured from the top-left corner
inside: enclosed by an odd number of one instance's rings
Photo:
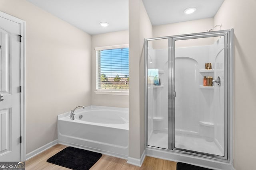
[[[129,157],[136,159],[145,149],[143,45],[144,38],[151,37],[152,25],[142,0],[129,0]]]

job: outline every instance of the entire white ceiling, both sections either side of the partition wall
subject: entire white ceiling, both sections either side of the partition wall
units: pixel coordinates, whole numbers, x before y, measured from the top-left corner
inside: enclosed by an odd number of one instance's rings
[[[27,0],[58,18],[95,35],[129,28],[128,0]],[[152,25],[213,17],[224,0],[143,0]],[[194,14],[184,10],[196,7]],[[100,22],[108,22],[101,27]]]

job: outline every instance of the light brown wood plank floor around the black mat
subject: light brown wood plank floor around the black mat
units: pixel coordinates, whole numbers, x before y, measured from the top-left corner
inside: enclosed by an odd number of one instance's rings
[[[55,145],[26,161],[26,170],[70,170],[62,166],[46,162],[48,158],[66,148],[65,145]],[[90,170],[176,170],[176,162],[146,156],[142,167],[127,164],[126,160],[113,156],[102,157]]]

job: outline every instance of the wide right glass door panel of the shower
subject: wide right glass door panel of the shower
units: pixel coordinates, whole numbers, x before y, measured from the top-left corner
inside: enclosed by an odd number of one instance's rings
[[[174,148],[224,156],[224,36],[174,47]]]

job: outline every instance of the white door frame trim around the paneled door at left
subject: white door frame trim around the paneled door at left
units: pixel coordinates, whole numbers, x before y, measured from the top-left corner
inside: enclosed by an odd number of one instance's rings
[[[20,24],[20,34],[22,36],[20,43],[20,161],[26,160],[26,21],[6,14],[0,11],[0,17]]]

